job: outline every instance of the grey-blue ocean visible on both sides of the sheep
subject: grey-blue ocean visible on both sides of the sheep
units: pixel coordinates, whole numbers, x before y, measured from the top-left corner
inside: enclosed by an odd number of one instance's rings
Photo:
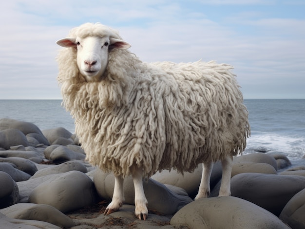
[[[251,125],[245,154],[264,149],[290,160],[305,155],[305,100],[245,100],[245,105]],[[61,100],[0,100],[0,118],[31,122],[41,130],[61,126],[74,133],[74,121]]]

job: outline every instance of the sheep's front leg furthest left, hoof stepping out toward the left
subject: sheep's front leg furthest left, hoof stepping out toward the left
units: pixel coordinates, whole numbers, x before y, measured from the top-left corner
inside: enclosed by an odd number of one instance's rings
[[[112,196],[111,203],[107,206],[104,214],[109,215],[110,213],[117,211],[122,207],[124,202],[124,178],[122,176],[114,176],[114,194]]]

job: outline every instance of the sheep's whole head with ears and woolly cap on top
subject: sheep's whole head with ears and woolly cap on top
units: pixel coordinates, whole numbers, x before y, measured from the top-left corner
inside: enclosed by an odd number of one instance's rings
[[[85,27],[86,30],[79,30],[82,27]],[[62,47],[76,49],[79,72],[88,81],[96,81],[101,78],[106,70],[108,53],[111,49],[131,47],[127,42],[118,39],[118,35],[115,35],[113,31],[107,31],[105,26],[99,23],[87,23],[78,27],[77,31],[80,35],[76,33],[75,36],[60,39],[56,43]]]

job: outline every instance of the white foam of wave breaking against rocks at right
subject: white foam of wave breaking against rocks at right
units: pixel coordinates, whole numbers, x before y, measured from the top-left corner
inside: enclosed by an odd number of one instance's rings
[[[259,147],[264,147],[268,152],[284,153],[289,159],[301,159],[305,155],[305,138],[266,133],[251,136],[246,151]]]

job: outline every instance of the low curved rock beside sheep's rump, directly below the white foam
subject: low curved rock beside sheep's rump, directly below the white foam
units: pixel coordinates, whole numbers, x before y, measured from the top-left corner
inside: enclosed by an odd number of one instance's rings
[[[253,154],[246,154],[233,159],[234,163],[238,162],[253,162],[253,163],[267,163],[277,171],[277,163],[276,159],[271,155],[264,154],[264,153],[253,153]]]

